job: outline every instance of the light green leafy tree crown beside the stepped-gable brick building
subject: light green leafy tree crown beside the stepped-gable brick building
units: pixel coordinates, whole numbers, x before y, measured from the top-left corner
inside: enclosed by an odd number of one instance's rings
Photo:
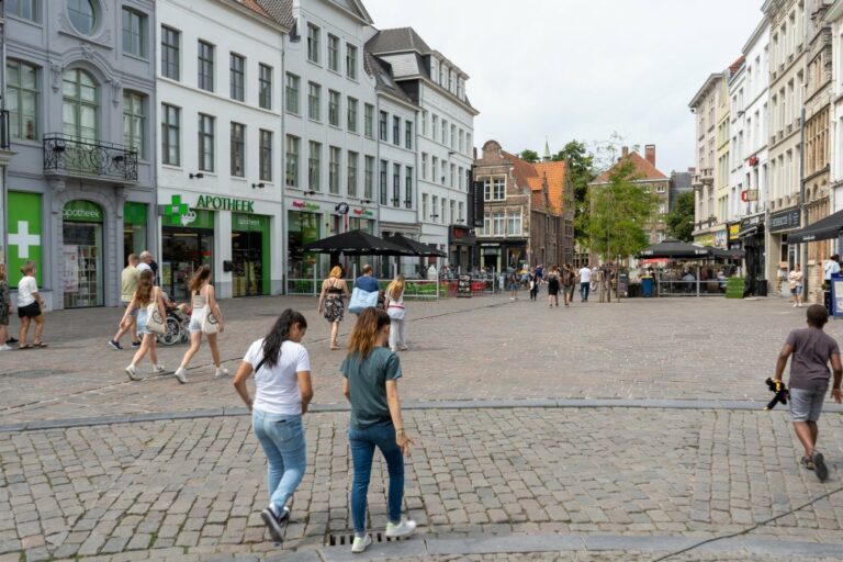
[[[609,170],[608,183],[588,190],[584,233],[604,261],[634,256],[650,244],[645,231],[655,218],[659,195],[645,191],[637,179],[634,164],[622,160]]]

